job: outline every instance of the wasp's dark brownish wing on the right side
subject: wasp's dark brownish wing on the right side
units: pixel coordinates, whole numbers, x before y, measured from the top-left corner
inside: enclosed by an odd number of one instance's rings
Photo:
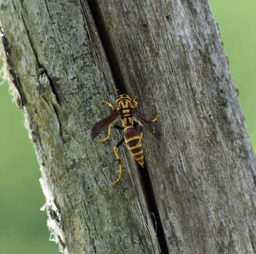
[[[138,124],[144,126],[147,130],[149,130],[157,139],[161,139],[161,134],[158,125],[155,122],[144,117],[140,112],[136,109],[132,109],[133,118]]]

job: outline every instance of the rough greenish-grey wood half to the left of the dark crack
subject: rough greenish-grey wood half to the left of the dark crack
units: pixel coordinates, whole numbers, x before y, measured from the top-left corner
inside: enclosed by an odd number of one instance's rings
[[[24,104],[42,172],[48,225],[60,248],[74,254],[158,253],[131,175],[111,186],[118,175],[112,151],[118,138],[90,140],[92,125],[110,112],[101,100],[108,100],[114,85],[87,4],[4,1],[0,17],[9,67],[20,81],[16,99]]]

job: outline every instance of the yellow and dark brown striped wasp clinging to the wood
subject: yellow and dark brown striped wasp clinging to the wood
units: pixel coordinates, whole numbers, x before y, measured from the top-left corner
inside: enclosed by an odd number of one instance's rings
[[[101,132],[101,130],[106,128],[107,126],[109,126],[108,136],[105,139],[100,139],[101,142],[105,142],[109,139],[109,137],[111,136],[112,128],[123,130],[124,132],[124,137],[113,148],[116,159],[119,162],[119,175],[116,181],[112,183],[112,185],[116,185],[121,179],[122,170],[123,170],[120,156],[117,153],[118,147],[121,146],[123,142],[125,142],[134,159],[143,168],[144,156],[143,156],[143,149],[142,149],[142,135],[143,135],[142,127],[145,127],[157,139],[160,140],[161,136],[160,136],[159,127],[155,123],[159,118],[159,115],[157,114],[153,120],[147,119],[136,110],[138,105],[137,97],[132,98],[130,95],[127,95],[127,94],[121,94],[116,97],[117,108],[115,108],[114,105],[112,105],[109,102],[106,102],[105,100],[103,100],[102,102],[108,105],[113,110],[113,113],[106,119],[94,125],[91,131],[92,139],[94,139]],[[114,124],[114,122],[118,121],[119,119],[121,119],[123,127],[120,127]],[[140,126],[140,133],[137,131],[137,125]]]

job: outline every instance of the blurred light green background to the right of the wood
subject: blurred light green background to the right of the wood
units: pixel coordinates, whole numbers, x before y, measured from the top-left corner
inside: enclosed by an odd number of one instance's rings
[[[210,0],[219,23],[231,74],[239,88],[239,100],[247,128],[256,147],[256,1]]]

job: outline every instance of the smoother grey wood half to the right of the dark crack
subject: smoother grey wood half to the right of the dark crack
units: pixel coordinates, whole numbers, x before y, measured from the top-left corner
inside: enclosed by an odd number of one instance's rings
[[[207,1],[96,2],[116,75],[161,115],[143,142],[169,252],[256,253],[256,161]]]

